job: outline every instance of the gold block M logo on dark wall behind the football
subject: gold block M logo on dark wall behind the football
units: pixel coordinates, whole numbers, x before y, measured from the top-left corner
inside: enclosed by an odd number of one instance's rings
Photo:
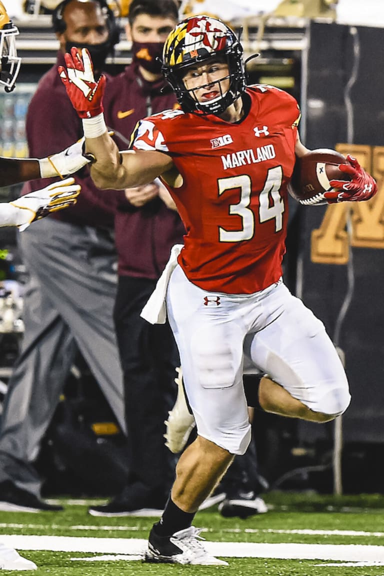
[[[311,233],[311,260],[346,264],[349,247],[384,248],[384,146],[337,144],[336,150],[355,156],[377,181],[378,193],[367,202],[330,204],[320,228]],[[350,214],[352,233],[347,232]]]

